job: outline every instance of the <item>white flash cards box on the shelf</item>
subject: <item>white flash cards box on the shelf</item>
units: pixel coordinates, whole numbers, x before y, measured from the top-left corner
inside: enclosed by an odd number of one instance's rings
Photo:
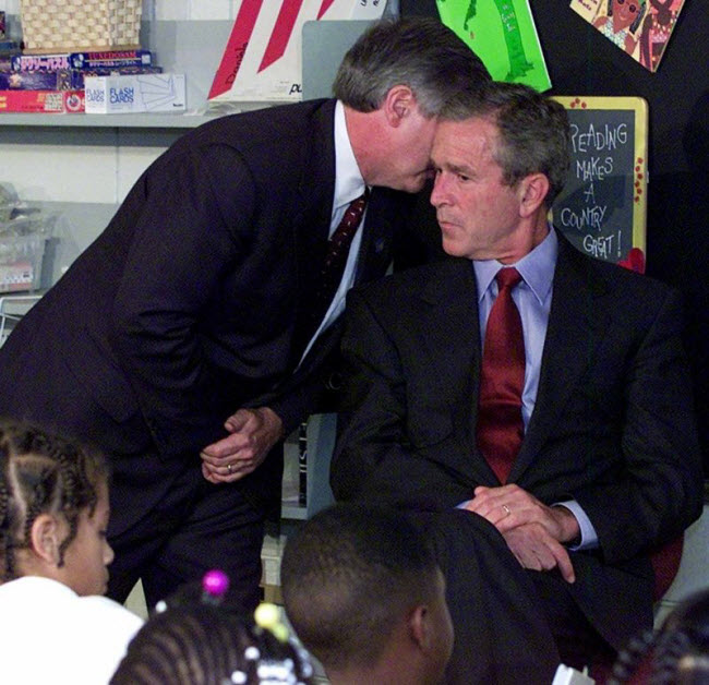
[[[87,76],[86,113],[183,112],[184,74]]]

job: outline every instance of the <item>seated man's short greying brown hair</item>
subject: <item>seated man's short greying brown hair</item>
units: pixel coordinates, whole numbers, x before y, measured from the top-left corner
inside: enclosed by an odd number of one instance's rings
[[[546,206],[564,188],[570,165],[570,128],[561,103],[521,83],[491,81],[473,92],[460,92],[448,100],[441,119],[465,121],[490,118],[497,127],[500,144],[495,161],[505,182],[517,184],[530,173],[549,179]]]

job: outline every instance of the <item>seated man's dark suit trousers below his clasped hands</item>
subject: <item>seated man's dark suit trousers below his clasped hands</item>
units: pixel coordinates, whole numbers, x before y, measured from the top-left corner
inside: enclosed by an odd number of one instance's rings
[[[482,517],[453,509],[414,519],[446,577],[455,628],[446,683],[549,685],[560,661],[580,666],[604,646],[561,575],[521,568]]]

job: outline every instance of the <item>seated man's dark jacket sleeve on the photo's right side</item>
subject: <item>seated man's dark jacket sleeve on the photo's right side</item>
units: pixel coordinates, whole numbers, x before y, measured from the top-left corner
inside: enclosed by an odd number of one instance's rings
[[[621,454],[616,462],[623,467],[574,493],[593,522],[609,562],[635,556],[669,540],[701,513],[702,479],[692,384],[681,339],[680,297],[668,289],[656,295],[662,297],[652,304],[653,319],[625,350],[625,359],[620,353],[615,360],[609,356],[605,366],[597,369],[609,377],[622,369],[621,401],[609,397],[608,405],[617,407]],[[608,419],[609,431],[612,421]],[[600,462],[606,455],[601,433],[598,435]],[[608,478],[610,472],[613,478]]]

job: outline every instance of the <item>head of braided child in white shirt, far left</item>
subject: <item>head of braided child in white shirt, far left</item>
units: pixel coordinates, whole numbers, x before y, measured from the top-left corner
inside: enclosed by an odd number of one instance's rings
[[[77,594],[103,594],[113,552],[106,541],[104,458],[37,426],[0,423],[0,582],[45,576]]]

